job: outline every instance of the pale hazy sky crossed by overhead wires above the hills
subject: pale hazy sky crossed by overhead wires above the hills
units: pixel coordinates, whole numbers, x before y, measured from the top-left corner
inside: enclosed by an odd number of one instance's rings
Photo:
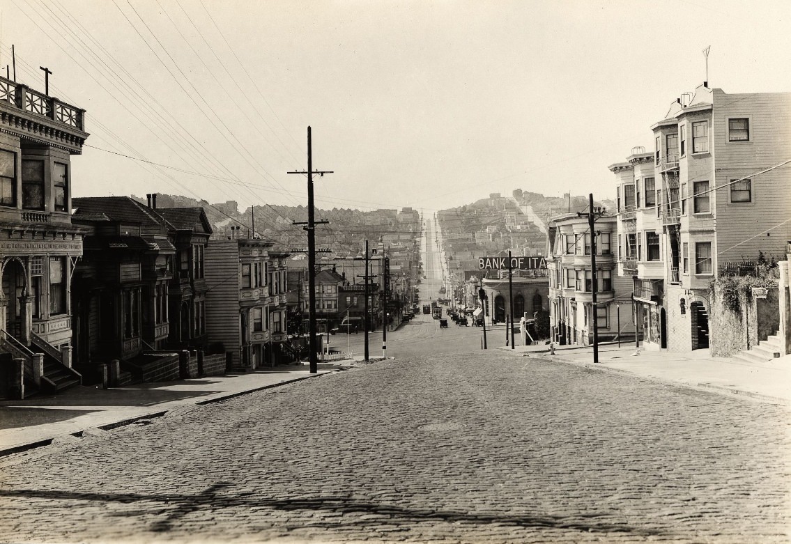
[[[6,0],[0,66],[87,111],[74,196],[433,213],[615,197],[681,93],[791,90],[791,2]],[[13,74],[11,74],[13,77]]]

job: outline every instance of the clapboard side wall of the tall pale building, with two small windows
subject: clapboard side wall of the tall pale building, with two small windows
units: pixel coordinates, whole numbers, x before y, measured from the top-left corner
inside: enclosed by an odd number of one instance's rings
[[[713,90],[713,148],[717,187],[785,161],[791,153],[791,93],[729,95]],[[750,120],[749,142],[728,142],[728,119]],[[791,240],[791,168],[753,176],[751,203],[730,202],[730,188],[717,189],[719,262],[753,260],[759,251],[776,259]],[[778,226],[780,225],[780,226]],[[756,236],[757,235],[757,236]],[[748,240],[750,239],[750,240]]]

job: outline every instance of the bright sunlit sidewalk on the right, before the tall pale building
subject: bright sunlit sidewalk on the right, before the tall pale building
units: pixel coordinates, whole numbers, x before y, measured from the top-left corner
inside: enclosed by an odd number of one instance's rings
[[[762,402],[791,406],[791,355],[763,363],[746,363],[729,357],[712,357],[708,349],[686,353],[646,351],[634,343],[619,348],[599,346],[599,363],[593,363],[592,346],[498,346],[520,357],[541,357],[610,372],[628,372],[651,380],[687,387],[744,395]]]

